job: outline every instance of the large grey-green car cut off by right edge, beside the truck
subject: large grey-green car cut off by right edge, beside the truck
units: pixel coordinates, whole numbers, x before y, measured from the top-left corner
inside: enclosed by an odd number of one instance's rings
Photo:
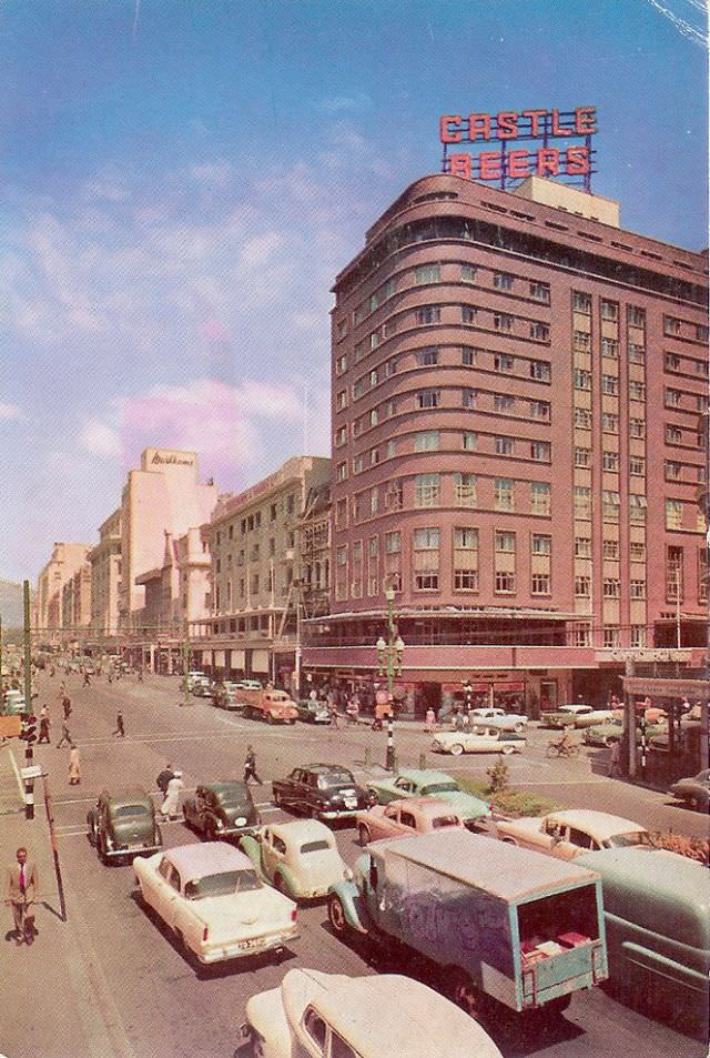
[[[585,853],[576,866],[601,876],[609,977],[621,994],[708,1039],[710,871],[658,849]]]

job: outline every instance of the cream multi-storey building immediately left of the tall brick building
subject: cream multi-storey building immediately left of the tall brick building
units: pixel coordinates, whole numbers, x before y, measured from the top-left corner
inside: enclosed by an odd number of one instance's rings
[[[239,495],[220,497],[203,527],[212,617],[191,623],[196,663],[288,684],[298,667],[301,523],[306,497],[327,485],[329,466],[327,459],[295,456]]]

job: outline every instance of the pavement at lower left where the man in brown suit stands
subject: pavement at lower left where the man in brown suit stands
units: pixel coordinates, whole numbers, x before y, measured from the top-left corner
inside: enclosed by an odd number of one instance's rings
[[[26,819],[23,808],[0,815],[0,1054],[9,1058],[134,1058],[123,1034],[113,1031],[112,1000],[88,946],[80,908],[68,900],[68,921],[61,919],[41,780],[34,789],[34,819]],[[21,845],[39,874],[38,935],[31,947],[16,945],[12,910],[4,904],[7,869]]]

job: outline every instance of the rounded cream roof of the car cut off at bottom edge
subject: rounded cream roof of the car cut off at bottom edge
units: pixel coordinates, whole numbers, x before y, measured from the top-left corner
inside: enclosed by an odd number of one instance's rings
[[[295,1021],[301,1019],[304,1000],[312,1002],[367,1058],[429,1058],[434,1041],[437,1048],[444,1046],[447,1058],[500,1058],[480,1025],[414,978],[292,969],[283,979],[282,991],[284,1007]],[[403,1016],[393,1017],[395,1010]]]

